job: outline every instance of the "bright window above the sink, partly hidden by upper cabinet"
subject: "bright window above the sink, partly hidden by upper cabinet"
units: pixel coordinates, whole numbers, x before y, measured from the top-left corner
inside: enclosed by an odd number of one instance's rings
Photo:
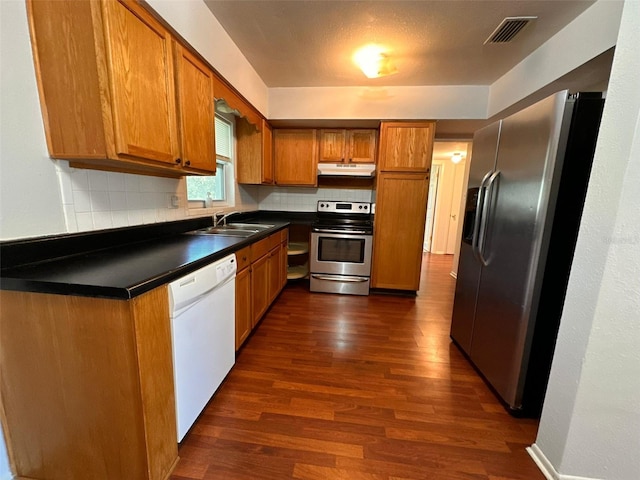
[[[216,174],[207,177],[187,178],[187,199],[190,208],[202,208],[207,200],[216,204],[233,203],[233,119],[216,113]]]

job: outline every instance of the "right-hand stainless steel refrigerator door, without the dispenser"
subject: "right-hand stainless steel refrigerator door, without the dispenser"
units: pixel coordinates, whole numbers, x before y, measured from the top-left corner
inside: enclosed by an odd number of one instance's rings
[[[489,214],[481,225],[486,266],[471,359],[515,409],[521,406],[533,333],[529,318],[566,98],[561,92],[503,120],[497,173],[486,199]]]

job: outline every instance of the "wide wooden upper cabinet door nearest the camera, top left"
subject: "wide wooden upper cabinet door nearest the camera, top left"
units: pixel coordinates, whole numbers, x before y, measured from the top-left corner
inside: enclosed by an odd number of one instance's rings
[[[131,0],[103,3],[116,153],[178,160],[171,36]]]

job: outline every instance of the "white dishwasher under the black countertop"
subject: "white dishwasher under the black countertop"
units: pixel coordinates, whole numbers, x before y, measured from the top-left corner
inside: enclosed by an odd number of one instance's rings
[[[236,257],[169,284],[178,442],[235,363]]]

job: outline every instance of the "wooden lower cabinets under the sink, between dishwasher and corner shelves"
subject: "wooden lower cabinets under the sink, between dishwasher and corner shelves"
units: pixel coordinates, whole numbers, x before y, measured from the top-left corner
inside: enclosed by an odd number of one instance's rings
[[[287,238],[281,230],[236,253],[236,351],[286,284]]]

